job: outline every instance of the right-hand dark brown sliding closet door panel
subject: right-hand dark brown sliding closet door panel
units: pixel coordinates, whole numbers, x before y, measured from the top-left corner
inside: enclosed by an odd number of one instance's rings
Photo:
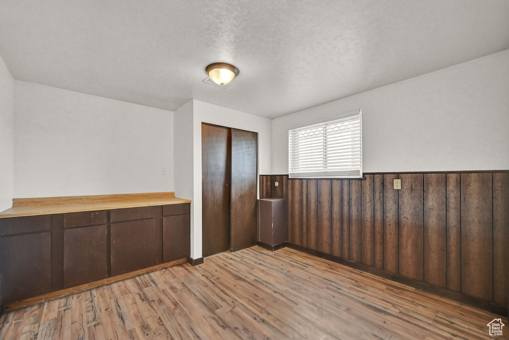
[[[232,251],[256,243],[257,179],[258,133],[232,129]]]

